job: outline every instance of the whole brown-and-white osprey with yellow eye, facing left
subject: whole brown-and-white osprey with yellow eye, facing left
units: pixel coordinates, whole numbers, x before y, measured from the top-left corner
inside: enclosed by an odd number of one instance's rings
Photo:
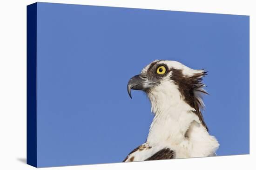
[[[146,142],[123,162],[214,156],[219,143],[209,135],[202,108],[204,69],[190,69],[182,63],[155,60],[132,77],[127,85],[144,91],[151,102],[154,119]]]

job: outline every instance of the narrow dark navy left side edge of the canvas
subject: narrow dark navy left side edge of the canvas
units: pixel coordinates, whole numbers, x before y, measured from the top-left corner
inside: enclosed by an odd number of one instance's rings
[[[37,167],[37,3],[27,6],[27,164]]]

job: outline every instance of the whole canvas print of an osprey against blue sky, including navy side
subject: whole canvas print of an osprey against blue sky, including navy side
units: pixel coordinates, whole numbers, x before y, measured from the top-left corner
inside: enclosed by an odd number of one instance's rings
[[[27,6],[27,164],[240,154],[249,16]]]

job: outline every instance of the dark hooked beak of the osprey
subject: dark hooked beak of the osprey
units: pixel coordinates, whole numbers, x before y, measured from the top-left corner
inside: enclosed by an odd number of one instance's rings
[[[129,80],[129,82],[127,84],[127,91],[128,91],[130,98],[132,98],[131,89],[146,90],[148,88],[152,88],[155,84],[157,84],[157,83],[148,81],[147,76],[140,74],[140,75],[133,76]]]

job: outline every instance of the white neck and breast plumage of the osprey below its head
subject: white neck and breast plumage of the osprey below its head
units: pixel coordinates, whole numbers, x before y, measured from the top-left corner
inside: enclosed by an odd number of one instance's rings
[[[174,150],[175,158],[213,155],[219,143],[202,125],[195,108],[184,101],[177,86],[162,85],[168,88],[158,87],[147,93],[155,117],[146,143],[158,149]]]

